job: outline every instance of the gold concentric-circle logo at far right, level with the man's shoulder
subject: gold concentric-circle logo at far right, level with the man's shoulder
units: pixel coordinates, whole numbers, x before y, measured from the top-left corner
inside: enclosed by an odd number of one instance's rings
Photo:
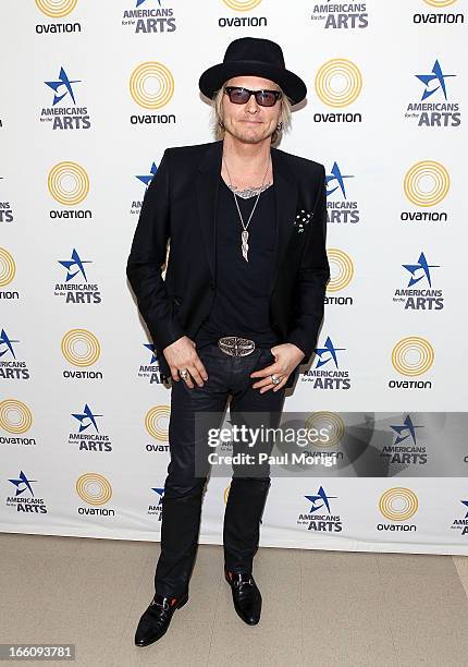
[[[407,198],[417,206],[435,206],[446,196],[451,186],[448,171],[440,162],[416,162],[405,175]]]

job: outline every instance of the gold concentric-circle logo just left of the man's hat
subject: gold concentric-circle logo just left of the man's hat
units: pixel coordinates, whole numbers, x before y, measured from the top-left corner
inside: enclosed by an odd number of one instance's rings
[[[143,62],[131,74],[130,93],[140,107],[160,109],[174,94],[174,77],[160,62]]]

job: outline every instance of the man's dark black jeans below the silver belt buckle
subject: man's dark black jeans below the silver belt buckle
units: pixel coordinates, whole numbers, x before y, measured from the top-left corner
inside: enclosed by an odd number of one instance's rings
[[[188,591],[210,471],[206,454],[213,451],[207,445],[207,429],[221,426],[229,395],[232,395],[231,423],[238,426],[276,428],[284,402],[284,387],[264,393],[251,388],[260,378],[250,378],[250,373],[274,361],[270,349],[256,348],[247,356],[231,356],[210,343],[197,352],[208,373],[204,387],[195,384],[189,389],[182,379],[172,384],[171,462],[162,499],[161,555],[155,575],[156,592],[165,596],[180,596]],[[272,442],[262,447],[262,451],[270,453]],[[239,451],[253,450],[245,442],[234,442],[232,453]],[[223,529],[226,570],[251,572],[270,484],[268,462],[256,468],[233,464]]]

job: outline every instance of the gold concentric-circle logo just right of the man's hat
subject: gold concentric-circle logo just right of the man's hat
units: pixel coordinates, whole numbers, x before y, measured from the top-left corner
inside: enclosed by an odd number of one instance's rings
[[[360,95],[362,75],[350,60],[335,58],[319,69],[316,75],[316,93],[329,107],[347,107]]]

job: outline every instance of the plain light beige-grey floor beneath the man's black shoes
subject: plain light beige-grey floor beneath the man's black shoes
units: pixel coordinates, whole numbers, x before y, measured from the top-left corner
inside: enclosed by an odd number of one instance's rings
[[[77,665],[468,665],[467,557],[262,548],[262,616],[248,627],[222,548],[200,546],[188,604],[138,648],[158,543],[0,533],[0,643],[74,643]],[[1,663],[13,664],[47,663]]]

